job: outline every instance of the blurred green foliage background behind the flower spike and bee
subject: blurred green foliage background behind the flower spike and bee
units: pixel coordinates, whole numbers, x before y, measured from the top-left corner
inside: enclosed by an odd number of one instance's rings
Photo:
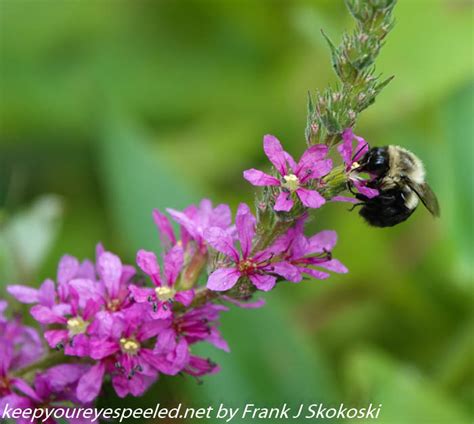
[[[104,405],[372,402],[381,423],[472,422],[473,3],[395,16],[377,69],[396,78],[357,132],[424,159],[441,219],[420,207],[380,230],[325,206],[308,230],[338,231],[349,274],[229,312],[232,353],[201,348],[222,366],[203,385],[164,377]],[[342,0],[0,0],[1,284],[39,284],[98,240],[129,262],[158,249],[153,207],[252,202],[263,134],[298,156],[307,90],[335,82],[320,29],[352,25]]]

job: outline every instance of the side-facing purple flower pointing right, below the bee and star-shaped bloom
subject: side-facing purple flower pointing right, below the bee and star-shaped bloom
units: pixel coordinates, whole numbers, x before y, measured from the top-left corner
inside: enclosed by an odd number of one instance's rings
[[[282,258],[297,269],[296,278],[288,280],[297,283],[303,279],[303,274],[320,280],[329,277],[327,272],[317,268],[337,273],[348,272],[341,262],[332,258],[332,249],[337,242],[336,232],[324,230],[312,237],[305,237],[305,219],[306,217],[299,219],[297,224],[279,237],[271,247],[276,254],[284,252]]]

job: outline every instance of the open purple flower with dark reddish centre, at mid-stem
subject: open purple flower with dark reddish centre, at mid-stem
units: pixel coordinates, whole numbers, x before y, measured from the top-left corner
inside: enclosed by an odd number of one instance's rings
[[[237,237],[240,242],[240,252],[235,247],[234,238],[218,227],[208,229],[204,236],[206,241],[214,249],[224,254],[232,266],[217,268],[207,281],[207,287],[211,290],[229,290],[241,277],[248,277],[250,281],[260,290],[271,290],[277,280],[277,276],[285,279],[295,278],[297,270],[286,261],[274,261],[272,257],[275,252],[270,249],[252,253],[252,241],[255,236],[255,217],[249,207],[241,203],[235,217]]]

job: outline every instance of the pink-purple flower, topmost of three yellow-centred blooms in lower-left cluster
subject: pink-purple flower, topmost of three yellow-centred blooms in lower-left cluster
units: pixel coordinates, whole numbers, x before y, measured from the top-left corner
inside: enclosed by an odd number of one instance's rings
[[[137,264],[147,274],[154,289],[148,287],[137,287],[130,285],[133,298],[138,303],[149,303],[152,306],[150,315],[152,318],[162,319],[172,315],[172,302],[177,301],[184,306],[189,306],[194,298],[194,290],[178,291],[176,281],[181,273],[184,252],[180,243],[176,244],[164,257],[164,275],[160,272],[160,265],[153,252],[140,250],[137,253]]]

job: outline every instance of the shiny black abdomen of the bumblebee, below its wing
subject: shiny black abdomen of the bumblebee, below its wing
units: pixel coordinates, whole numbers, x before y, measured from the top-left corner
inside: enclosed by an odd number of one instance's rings
[[[363,200],[359,214],[375,227],[392,227],[405,221],[415,210],[405,206],[403,193],[399,189],[381,191],[372,199],[364,196]]]

